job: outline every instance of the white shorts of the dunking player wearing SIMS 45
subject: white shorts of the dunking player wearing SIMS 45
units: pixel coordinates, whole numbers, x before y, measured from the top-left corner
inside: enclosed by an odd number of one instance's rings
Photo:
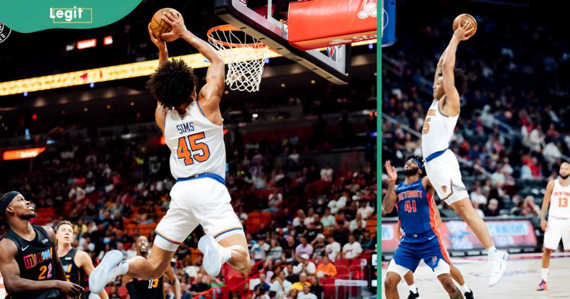
[[[243,235],[242,223],[230,204],[230,193],[215,179],[177,182],[170,190],[170,198],[170,207],[155,231],[154,244],[158,247],[176,251],[198,224],[202,224],[205,233],[216,241]]]

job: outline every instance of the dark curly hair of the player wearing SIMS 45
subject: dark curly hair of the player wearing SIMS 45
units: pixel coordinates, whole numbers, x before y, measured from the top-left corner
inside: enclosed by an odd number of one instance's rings
[[[146,89],[166,109],[188,103],[196,88],[196,75],[184,60],[171,59],[162,64],[146,82]]]

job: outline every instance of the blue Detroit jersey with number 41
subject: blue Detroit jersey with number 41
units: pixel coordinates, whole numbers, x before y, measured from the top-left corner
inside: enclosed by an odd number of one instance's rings
[[[402,182],[396,189],[396,195],[398,218],[406,239],[413,236],[418,239],[417,236],[423,235],[430,237],[429,232],[435,234],[435,207],[428,199],[422,180],[418,179],[410,185]]]

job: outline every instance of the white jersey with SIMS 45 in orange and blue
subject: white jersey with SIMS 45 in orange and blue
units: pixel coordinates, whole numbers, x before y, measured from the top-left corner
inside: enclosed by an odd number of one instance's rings
[[[211,173],[226,177],[223,126],[213,124],[194,101],[184,117],[174,110],[164,118],[164,140],[170,148],[170,173],[175,179]]]

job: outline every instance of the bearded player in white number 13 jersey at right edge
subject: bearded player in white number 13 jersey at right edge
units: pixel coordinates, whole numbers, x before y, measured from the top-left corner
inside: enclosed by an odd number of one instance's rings
[[[558,248],[560,239],[564,251],[570,251],[570,163],[560,165],[560,178],[548,182],[542,210],[540,213],[540,228],[544,231],[544,251],[542,253],[542,281],[536,290],[546,290],[548,287],[548,267],[550,255]],[[550,208],[548,206],[550,205]],[[548,210],[548,223],[546,222]]]

